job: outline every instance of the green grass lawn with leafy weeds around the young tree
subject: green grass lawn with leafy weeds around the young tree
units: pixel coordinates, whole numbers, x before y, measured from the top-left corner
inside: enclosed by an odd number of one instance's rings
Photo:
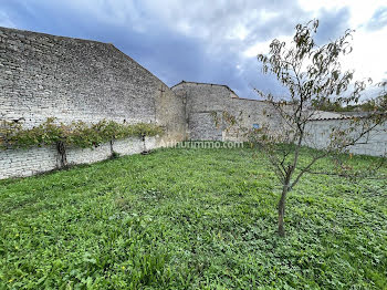
[[[386,186],[305,176],[283,239],[280,187],[248,148],[3,180],[0,289],[387,289]]]

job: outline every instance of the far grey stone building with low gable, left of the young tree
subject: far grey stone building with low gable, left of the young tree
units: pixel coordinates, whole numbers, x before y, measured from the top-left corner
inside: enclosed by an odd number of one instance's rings
[[[186,100],[187,138],[242,141],[240,130],[230,125],[217,125],[215,117],[222,120],[228,112],[238,118],[240,127],[259,128],[280,126],[274,107],[265,101],[239,97],[229,86],[220,84],[180,82],[171,87],[177,96]],[[217,114],[215,116],[213,114]]]

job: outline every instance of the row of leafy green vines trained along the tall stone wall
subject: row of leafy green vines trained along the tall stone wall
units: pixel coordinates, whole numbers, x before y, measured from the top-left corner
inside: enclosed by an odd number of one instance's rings
[[[96,124],[73,122],[69,125],[48,118],[32,128],[3,122],[0,127],[0,179],[29,176],[73,164],[87,164],[116,155],[151,149],[163,128],[154,124]]]

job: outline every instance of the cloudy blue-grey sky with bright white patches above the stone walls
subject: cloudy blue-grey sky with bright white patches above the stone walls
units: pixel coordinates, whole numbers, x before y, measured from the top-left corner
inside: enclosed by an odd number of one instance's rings
[[[355,29],[344,60],[356,79],[387,79],[386,0],[0,0],[0,25],[114,43],[171,86],[181,80],[281,92],[255,55],[320,19],[318,43]]]

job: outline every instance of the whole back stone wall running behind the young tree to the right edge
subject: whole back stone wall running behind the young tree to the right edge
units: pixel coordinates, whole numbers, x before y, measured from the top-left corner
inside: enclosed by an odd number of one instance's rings
[[[195,141],[245,141],[241,128],[270,128],[271,133],[281,134],[285,123],[266,101],[239,97],[229,86],[208,83],[180,82],[171,87],[177,96],[186,103],[187,138]],[[291,108],[290,108],[291,110]],[[221,123],[222,113],[236,116],[238,127]],[[345,128],[352,122],[352,116],[314,112],[314,120],[306,127],[303,145],[323,149],[331,143],[330,134],[333,127]],[[216,115],[215,115],[216,114]],[[218,122],[215,122],[215,120]],[[219,122],[220,121],[220,122]],[[218,124],[217,124],[218,123]],[[356,135],[356,132],[354,132]],[[373,156],[387,155],[387,124],[377,126],[349,147],[354,154]]]

